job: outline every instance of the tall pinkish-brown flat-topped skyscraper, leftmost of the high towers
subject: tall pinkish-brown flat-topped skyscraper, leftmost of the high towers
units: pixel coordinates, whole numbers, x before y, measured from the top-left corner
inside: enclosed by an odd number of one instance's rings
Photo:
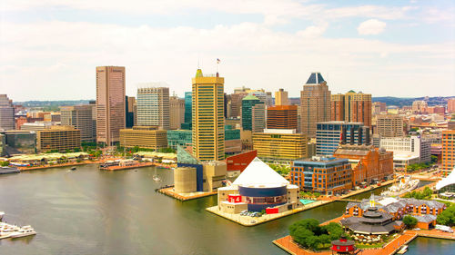
[[[125,67],[96,67],[96,142],[119,142],[125,128]]]

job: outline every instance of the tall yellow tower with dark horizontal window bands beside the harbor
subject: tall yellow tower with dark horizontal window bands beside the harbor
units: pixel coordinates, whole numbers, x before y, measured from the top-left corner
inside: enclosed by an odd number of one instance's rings
[[[193,155],[200,161],[225,158],[224,83],[197,69],[193,83]]]

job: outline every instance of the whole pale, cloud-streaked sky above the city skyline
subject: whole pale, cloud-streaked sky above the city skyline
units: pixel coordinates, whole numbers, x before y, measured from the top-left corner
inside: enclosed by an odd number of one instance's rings
[[[455,1],[2,0],[0,93],[96,98],[96,66],[191,90],[197,67],[299,97],[311,72],[332,93],[455,95]],[[217,66],[217,58],[221,60]]]

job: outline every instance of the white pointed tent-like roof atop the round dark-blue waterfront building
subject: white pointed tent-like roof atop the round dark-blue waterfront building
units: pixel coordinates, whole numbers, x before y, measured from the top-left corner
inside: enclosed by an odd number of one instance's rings
[[[288,180],[258,158],[250,162],[248,167],[232,183],[232,185],[242,187],[281,187],[288,184]]]

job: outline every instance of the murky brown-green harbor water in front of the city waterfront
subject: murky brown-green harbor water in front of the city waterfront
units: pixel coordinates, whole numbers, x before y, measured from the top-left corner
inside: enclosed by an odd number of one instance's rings
[[[328,221],[346,206],[334,202],[243,227],[205,210],[217,204],[217,196],[182,202],[157,193],[173,182],[173,174],[158,169],[162,181],[155,182],[154,172],[152,167],[101,172],[84,165],[76,171],[0,176],[4,221],[30,224],[37,232],[0,240],[0,254],[287,254],[271,241],[287,235],[290,224],[306,218]]]

